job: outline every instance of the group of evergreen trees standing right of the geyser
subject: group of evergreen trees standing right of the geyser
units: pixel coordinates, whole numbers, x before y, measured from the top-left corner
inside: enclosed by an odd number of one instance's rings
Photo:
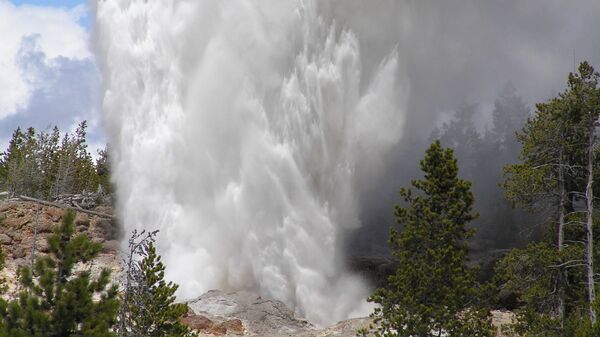
[[[402,203],[395,206],[398,228],[390,230],[389,244],[398,268],[369,298],[378,305],[371,315],[376,336],[493,336],[490,310],[503,293],[516,298],[511,335],[600,336],[594,211],[600,192],[599,79],[581,63],[567,89],[537,104],[516,133],[520,155],[505,166],[502,188],[508,202],[535,215],[513,228],[539,221],[543,235],[500,259],[489,283],[477,281],[469,261],[470,223],[478,216],[471,183],[459,177],[452,149],[439,140],[429,147],[421,161],[423,179],[401,189]],[[465,123],[451,121],[440,134],[481,139],[459,125]],[[504,137],[511,146],[508,133]]]

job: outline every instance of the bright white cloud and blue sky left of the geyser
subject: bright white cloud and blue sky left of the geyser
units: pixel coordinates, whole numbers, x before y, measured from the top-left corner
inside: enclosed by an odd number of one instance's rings
[[[79,22],[85,8],[15,6],[0,0],[0,141],[17,126],[68,131],[98,124],[100,75]],[[99,129],[99,128],[96,128]],[[90,127],[90,138],[103,138]]]

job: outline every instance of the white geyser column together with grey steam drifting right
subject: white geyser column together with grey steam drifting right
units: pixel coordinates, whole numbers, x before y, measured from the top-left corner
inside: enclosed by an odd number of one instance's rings
[[[483,139],[508,86],[531,109],[578,61],[600,62],[597,1],[120,0],[96,11],[125,229],[162,230],[181,297],[251,289],[323,324],[367,312],[369,285],[346,257],[385,254],[397,191],[419,177],[436,128],[474,106]],[[476,207],[501,198],[515,152],[479,172]],[[502,212],[514,211],[480,210],[477,226]]]

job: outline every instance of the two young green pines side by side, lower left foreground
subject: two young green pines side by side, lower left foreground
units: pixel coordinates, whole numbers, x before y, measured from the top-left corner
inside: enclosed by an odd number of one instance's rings
[[[175,303],[178,286],[164,280],[156,232],[134,233],[125,277],[115,284],[108,268],[92,274],[102,246],[76,234],[74,220],[75,212],[66,212],[47,239],[48,254],[19,270],[16,298],[0,296],[0,337],[195,336],[180,321],[188,308]],[[0,279],[0,295],[6,290]]]

